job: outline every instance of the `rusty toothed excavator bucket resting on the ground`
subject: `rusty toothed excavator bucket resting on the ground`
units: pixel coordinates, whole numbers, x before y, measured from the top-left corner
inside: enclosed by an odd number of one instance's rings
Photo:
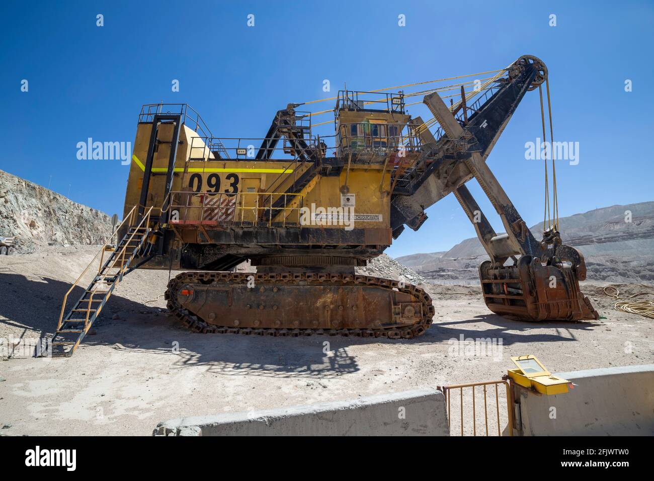
[[[513,266],[492,267],[487,260],[479,266],[484,301],[498,314],[521,321],[582,321],[599,319],[589,298],[579,290],[586,278],[583,256],[577,249],[560,245],[559,251],[573,254],[577,262],[556,256],[549,264],[530,255]]]

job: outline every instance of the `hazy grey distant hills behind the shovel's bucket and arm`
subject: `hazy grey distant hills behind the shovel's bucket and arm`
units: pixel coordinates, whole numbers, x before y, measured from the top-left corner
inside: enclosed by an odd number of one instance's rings
[[[625,222],[625,211],[631,222]],[[611,205],[559,219],[563,241],[586,258],[589,279],[654,280],[654,202]],[[530,228],[542,238],[543,224]],[[396,260],[431,280],[476,279],[477,266],[488,258],[479,240],[459,242],[442,253],[413,254]]]

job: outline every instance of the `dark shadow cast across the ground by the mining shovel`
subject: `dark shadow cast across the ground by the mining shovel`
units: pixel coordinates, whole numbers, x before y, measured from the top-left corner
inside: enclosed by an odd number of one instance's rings
[[[0,315],[10,327],[45,336],[54,332],[61,308],[61,299],[71,284],[48,277],[26,277],[3,274],[0,281]],[[82,287],[75,287],[69,298],[81,296]],[[18,297],[20,296],[20,301]],[[25,309],[28,303],[31,307]],[[131,301],[118,294],[111,296],[105,311],[94,324],[94,335],[87,336],[83,350],[95,346],[110,346],[125,355],[150,353],[171,355],[176,368],[205,366],[208,372],[225,376],[269,376],[332,378],[353,374],[360,370],[356,356],[349,353],[351,346],[368,344],[424,346],[451,344],[451,340],[496,339],[504,346],[530,342],[574,342],[575,330],[589,330],[591,322],[528,323],[513,321],[495,314],[476,315],[457,321],[437,320],[419,338],[389,340],[385,338],[357,338],[343,336],[269,337],[236,334],[198,334],[186,330],[162,309]],[[40,312],[41,315],[32,315]],[[120,319],[112,314],[120,312]],[[487,325],[487,326],[484,326]],[[534,327],[555,329],[555,332],[530,332]],[[328,343],[328,344],[326,344]]]

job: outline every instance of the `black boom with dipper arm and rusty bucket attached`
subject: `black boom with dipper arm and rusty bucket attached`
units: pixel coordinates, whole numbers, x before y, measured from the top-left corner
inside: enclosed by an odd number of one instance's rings
[[[416,170],[417,175],[414,171],[404,175],[402,188],[394,191],[393,236],[401,234],[404,224],[418,230],[427,218],[424,209],[453,193],[490,257],[490,262],[479,268],[490,310],[534,320],[598,319],[588,298],[579,291],[578,280],[586,276],[581,253],[563,245],[554,229],[543,232],[543,240],[537,241],[486,164],[526,92],[546,80],[545,64],[534,56],[523,56],[509,67],[506,79],[496,82],[489,98],[478,101],[478,108],[477,103],[467,107],[463,95],[463,113],[458,118],[437,92],[424,97],[443,135],[424,146],[419,160],[422,169]],[[470,118],[467,109],[472,111]],[[466,187],[473,177],[502,219],[506,234],[495,232]],[[513,265],[505,266],[509,258]]]

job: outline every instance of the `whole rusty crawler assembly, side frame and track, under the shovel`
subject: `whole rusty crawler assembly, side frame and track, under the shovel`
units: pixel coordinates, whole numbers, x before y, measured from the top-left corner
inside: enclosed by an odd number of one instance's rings
[[[184,272],[165,298],[190,329],[221,334],[410,339],[434,316],[419,287],[351,274]]]

